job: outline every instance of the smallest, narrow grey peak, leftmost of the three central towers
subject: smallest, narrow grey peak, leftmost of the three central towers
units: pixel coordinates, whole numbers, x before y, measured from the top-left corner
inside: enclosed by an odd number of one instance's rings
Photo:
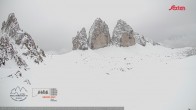
[[[82,28],[80,32],[77,32],[76,37],[72,39],[73,50],[87,50],[88,43],[87,43],[87,34],[85,28]]]

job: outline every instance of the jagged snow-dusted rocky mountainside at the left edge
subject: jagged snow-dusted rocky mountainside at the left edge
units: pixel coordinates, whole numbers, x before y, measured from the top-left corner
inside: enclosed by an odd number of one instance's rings
[[[2,78],[18,79],[23,84],[31,85],[25,77],[29,65],[40,64],[46,57],[42,49],[38,48],[32,37],[23,31],[14,13],[2,23],[0,33],[0,75]],[[13,82],[13,81],[11,81]]]

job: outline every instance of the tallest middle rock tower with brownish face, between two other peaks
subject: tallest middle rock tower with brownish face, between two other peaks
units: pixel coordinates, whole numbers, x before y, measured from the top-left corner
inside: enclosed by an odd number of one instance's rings
[[[108,25],[97,18],[89,31],[88,45],[91,49],[98,49],[108,46],[110,43],[110,33]]]

